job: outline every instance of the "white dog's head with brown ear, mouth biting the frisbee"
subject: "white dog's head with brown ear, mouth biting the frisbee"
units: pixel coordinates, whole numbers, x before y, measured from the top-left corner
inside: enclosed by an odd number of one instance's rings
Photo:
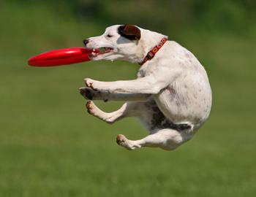
[[[117,25],[106,28],[101,36],[85,39],[86,48],[95,49],[92,60],[141,61],[143,49],[140,46],[141,28],[132,25]],[[96,50],[97,49],[97,50]]]

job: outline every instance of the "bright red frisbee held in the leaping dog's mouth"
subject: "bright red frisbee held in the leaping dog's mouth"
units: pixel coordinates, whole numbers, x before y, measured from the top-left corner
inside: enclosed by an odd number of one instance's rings
[[[30,66],[61,66],[71,63],[80,63],[83,61],[90,61],[89,50],[83,47],[64,48],[59,50],[50,50],[34,57],[29,58]]]

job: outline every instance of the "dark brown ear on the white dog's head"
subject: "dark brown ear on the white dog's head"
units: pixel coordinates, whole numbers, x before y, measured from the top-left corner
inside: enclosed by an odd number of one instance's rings
[[[132,25],[124,25],[118,27],[118,34],[131,40],[140,39],[140,29]]]

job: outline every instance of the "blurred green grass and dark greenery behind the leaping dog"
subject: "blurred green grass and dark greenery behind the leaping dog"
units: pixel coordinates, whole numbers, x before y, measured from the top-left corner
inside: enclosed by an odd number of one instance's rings
[[[1,1],[0,196],[255,196],[255,13],[253,0]],[[26,64],[123,23],[168,35],[208,71],[211,116],[178,150],[124,150],[116,134],[138,139],[143,126],[108,125],[84,109],[84,77],[129,80],[138,65]]]

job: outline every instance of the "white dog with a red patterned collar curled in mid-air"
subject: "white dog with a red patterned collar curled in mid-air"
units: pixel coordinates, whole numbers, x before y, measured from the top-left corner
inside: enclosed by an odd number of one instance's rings
[[[101,36],[85,39],[93,50],[91,60],[123,60],[139,63],[136,80],[101,82],[85,79],[79,88],[89,99],[91,115],[107,123],[138,117],[149,135],[130,140],[119,134],[116,142],[128,150],[159,147],[175,150],[194,136],[206,122],[212,93],[206,70],[189,50],[167,36],[138,26],[116,25]],[[115,112],[103,112],[92,100],[126,101]]]

